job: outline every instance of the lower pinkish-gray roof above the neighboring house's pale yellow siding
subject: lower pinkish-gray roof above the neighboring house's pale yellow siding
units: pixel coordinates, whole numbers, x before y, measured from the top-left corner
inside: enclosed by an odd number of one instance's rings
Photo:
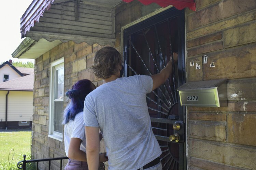
[[[0,90],[33,91],[34,74],[0,83]]]

